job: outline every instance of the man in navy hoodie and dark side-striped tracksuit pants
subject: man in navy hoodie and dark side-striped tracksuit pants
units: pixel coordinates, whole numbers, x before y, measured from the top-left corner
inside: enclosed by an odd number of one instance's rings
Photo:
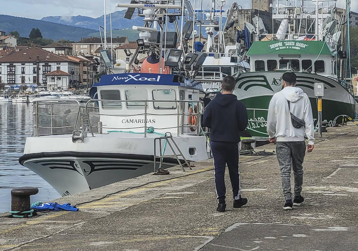
[[[204,112],[203,126],[211,128],[211,151],[214,158],[214,177],[219,212],[225,212],[225,167],[228,166],[234,197],[234,208],[247,203],[241,198],[241,184],[239,172],[239,142],[240,132],[247,127],[248,119],[246,107],[232,94],[235,79],[226,76],[221,84],[222,93],[207,105]]]

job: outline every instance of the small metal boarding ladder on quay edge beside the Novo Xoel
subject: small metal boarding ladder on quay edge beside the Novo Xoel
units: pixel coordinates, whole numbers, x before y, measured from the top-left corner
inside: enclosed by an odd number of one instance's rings
[[[159,155],[158,156],[156,154],[156,141],[157,140],[159,141]],[[162,140],[164,140],[164,150],[162,148]],[[166,146],[170,147],[172,154],[168,154],[168,155],[164,154]],[[174,150],[174,148],[176,149],[176,151]],[[176,153],[176,152],[179,152],[179,153]],[[164,158],[174,158],[174,157],[176,158],[176,160],[178,161],[180,167],[182,167],[184,172],[185,172],[185,169],[184,169],[183,164],[185,164],[186,166],[189,167],[190,170],[192,170],[192,167],[190,167],[189,162],[184,157],[182,151],[180,151],[178,145],[175,143],[175,141],[173,139],[173,136],[171,135],[170,132],[166,132],[163,137],[159,137],[159,138],[154,139],[154,172],[157,171],[156,170],[157,158],[160,158],[159,167],[161,167],[163,165],[163,159]],[[182,157],[183,159],[180,160],[179,157]]]

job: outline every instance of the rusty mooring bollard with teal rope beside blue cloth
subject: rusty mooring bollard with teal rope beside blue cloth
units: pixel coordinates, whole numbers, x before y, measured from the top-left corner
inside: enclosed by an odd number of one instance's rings
[[[32,186],[21,186],[11,190],[11,211],[13,217],[32,216],[30,210],[30,195],[37,194],[38,188]]]

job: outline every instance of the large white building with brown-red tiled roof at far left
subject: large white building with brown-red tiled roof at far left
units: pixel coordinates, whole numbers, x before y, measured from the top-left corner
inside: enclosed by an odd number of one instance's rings
[[[56,55],[38,47],[13,52],[0,58],[0,82],[21,86],[38,84],[47,87],[47,76],[51,71],[68,72],[69,84],[80,79],[79,63],[66,56]]]

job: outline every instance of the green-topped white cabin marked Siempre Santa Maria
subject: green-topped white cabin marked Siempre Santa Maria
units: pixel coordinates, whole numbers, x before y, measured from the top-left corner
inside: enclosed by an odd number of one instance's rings
[[[337,78],[336,59],[324,41],[258,41],[246,55],[251,71],[292,70]]]

